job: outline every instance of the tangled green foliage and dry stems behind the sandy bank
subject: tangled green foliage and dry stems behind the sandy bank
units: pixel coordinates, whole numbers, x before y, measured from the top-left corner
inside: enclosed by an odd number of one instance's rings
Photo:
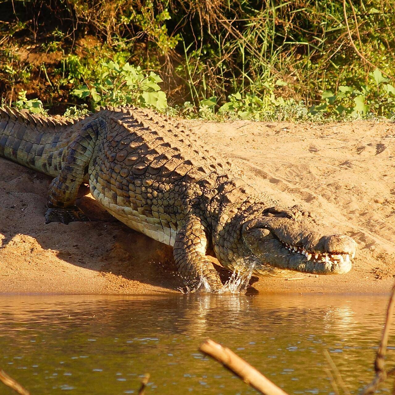
[[[0,5],[6,102],[15,102],[26,90],[28,99],[38,98],[45,107],[56,104],[51,112],[84,103],[134,102],[163,109],[166,92],[173,107],[168,111],[189,116],[393,116],[395,6],[389,0],[25,0]],[[45,56],[32,62],[24,56],[27,51]],[[136,93],[115,68],[103,82],[103,64],[111,62],[119,70],[139,66],[141,81],[154,71],[163,80],[161,90],[157,85]],[[372,86],[372,73],[387,81]],[[119,85],[111,87],[107,80]]]

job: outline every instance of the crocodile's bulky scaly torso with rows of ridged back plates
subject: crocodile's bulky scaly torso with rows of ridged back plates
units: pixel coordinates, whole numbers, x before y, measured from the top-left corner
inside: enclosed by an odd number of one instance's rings
[[[89,166],[92,195],[130,228],[173,245],[185,213],[205,222],[202,201],[231,164],[198,143],[180,122],[147,109],[98,113],[99,141]]]

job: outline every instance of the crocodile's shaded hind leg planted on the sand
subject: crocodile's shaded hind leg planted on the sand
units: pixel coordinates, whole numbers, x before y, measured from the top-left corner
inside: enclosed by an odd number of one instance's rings
[[[45,223],[88,220],[75,206],[75,199],[92,159],[100,127],[103,127],[100,120],[88,124],[68,146],[64,166],[49,186]]]

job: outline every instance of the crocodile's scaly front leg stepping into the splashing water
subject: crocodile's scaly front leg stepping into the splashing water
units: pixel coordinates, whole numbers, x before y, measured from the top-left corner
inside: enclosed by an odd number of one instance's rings
[[[173,246],[177,269],[190,292],[205,288],[208,284],[211,292],[220,292],[224,286],[213,263],[205,255],[207,237],[201,221],[190,218],[178,231]]]

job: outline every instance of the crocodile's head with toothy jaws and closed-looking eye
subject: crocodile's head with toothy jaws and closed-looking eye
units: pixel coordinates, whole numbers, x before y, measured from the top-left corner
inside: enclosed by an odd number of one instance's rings
[[[267,274],[270,267],[321,275],[347,273],[357,247],[351,237],[318,226],[298,206],[265,209],[247,220],[241,233],[257,275]]]

